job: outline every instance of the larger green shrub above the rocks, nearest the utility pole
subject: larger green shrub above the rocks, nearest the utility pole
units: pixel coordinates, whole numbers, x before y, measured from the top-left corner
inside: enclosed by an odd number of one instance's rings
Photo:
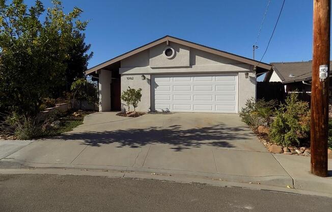
[[[279,145],[291,146],[308,140],[309,134],[309,104],[298,100],[296,93],[291,93],[287,96],[286,103],[276,112],[269,137]]]

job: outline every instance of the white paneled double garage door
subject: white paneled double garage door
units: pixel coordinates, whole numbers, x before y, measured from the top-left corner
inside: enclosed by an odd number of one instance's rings
[[[152,111],[237,113],[237,74],[153,75]]]

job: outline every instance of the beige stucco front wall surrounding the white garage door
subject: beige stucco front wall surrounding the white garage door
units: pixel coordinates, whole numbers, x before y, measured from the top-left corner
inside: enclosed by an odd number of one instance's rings
[[[130,88],[142,88],[142,100],[136,111],[151,110],[151,75],[176,73],[238,73],[238,111],[241,111],[248,98],[256,97],[256,75],[252,66],[239,61],[220,57],[209,52],[170,42],[176,50],[173,59],[163,56],[166,44],[159,44],[140,54],[121,61],[121,92]],[[245,73],[248,72],[248,78]],[[146,76],[143,81],[141,75]],[[122,109],[128,110],[122,102]]]

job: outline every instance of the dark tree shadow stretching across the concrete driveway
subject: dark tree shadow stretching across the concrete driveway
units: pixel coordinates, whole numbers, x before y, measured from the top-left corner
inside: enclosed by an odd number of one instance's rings
[[[81,140],[82,144],[99,147],[101,144],[119,143],[118,147],[137,148],[148,144],[170,145],[175,151],[202,146],[235,147],[232,141],[251,139],[253,134],[245,127],[228,127],[223,124],[211,127],[182,129],[169,127],[128,128],[113,131],[82,131],[67,133],[54,139]]]

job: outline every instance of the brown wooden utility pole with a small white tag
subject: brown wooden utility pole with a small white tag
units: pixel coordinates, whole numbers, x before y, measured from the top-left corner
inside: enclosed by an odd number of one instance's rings
[[[311,86],[311,173],[327,176],[330,0],[314,0]]]

